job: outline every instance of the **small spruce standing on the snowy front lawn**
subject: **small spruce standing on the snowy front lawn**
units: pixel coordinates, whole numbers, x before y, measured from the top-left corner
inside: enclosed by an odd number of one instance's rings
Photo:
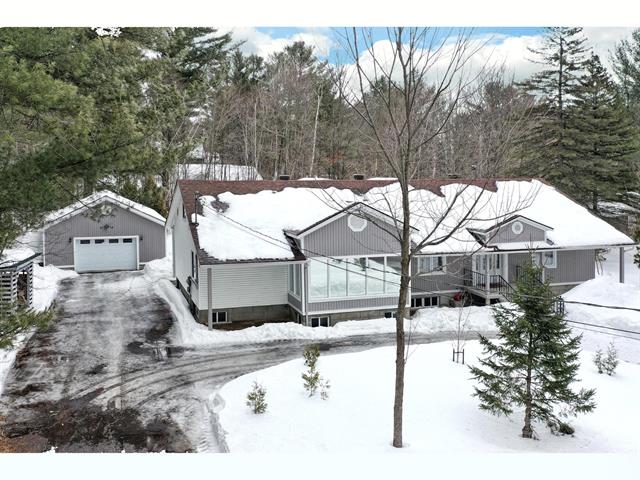
[[[595,390],[571,389],[581,336],[572,336],[563,315],[556,313],[557,297],[539,280],[540,273],[540,267],[526,265],[515,287],[514,306],[494,307],[497,341],[480,336],[484,356],[479,366],[471,367],[480,408],[507,416],[524,408],[525,438],[533,437],[535,422],[561,430],[561,416],[595,408]]]

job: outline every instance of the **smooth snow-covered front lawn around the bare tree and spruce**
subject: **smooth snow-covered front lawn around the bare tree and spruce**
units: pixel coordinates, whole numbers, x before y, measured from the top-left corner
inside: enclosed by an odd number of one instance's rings
[[[474,362],[477,342],[466,345]],[[449,342],[420,345],[407,363],[404,438],[407,453],[616,452],[638,453],[636,408],[640,366],[621,362],[616,376],[598,375],[591,353],[581,356],[579,378],[596,388],[593,413],[572,421],[573,436],[556,437],[536,426],[540,441],[519,437],[522,412],[512,419],[478,408],[465,365],[451,362]],[[232,453],[397,453],[391,446],[394,349],[322,356],[318,370],[331,382],[330,398],[308,398],[302,358],[259,370],[226,384],[217,400]],[[250,413],[246,394],[256,380],[267,389],[267,412]],[[216,394],[214,394],[215,396]]]

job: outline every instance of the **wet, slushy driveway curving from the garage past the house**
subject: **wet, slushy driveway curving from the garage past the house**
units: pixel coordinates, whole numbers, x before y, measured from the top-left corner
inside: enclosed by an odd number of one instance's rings
[[[0,450],[220,451],[209,395],[312,343],[181,346],[168,305],[141,272],[65,280],[58,305],[53,326],[31,337],[6,380]],[[337,353],[393,341],[352,336],[323,348]]]

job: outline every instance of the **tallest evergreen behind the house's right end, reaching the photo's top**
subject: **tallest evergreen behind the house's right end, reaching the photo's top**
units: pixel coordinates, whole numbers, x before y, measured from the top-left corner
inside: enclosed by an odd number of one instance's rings
[[[575,139],[570,107],[580,88],[585,43],[582,28],[550,27],[539,49],[530,49],[544,69],[522,84],[538,99],[530,133],[522,145],[523,172],[575,193]]]

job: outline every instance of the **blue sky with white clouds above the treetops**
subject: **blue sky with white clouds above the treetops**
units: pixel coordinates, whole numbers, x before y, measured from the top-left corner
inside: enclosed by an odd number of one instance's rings
[[[540,44],[542,31],[542,28],[534,27],[477,28],[474,30],[474,36],[480,42],[486,43],[478,57],[482,60],[490,59],[492,63],[504,62],[516,79],[525,78],[540,68],[529,61],[531,54],[527,47],[536,47]],[[584,29],[589,46],[600,55],[607,65],[609,52],[615,43],[627,38],[632,31],[632,28],[617,27],[587,27]],[[243,52],[256,53],[264,57],[282,50],[286,45],[295,41],[304,40],[305,43],[313,45],[319,58],[326,59],[331,63],[349,63],[340,47],[339,37],[343,32],[343,28],[242,27],[233,29],[233,38],[236,41],[244,42],[241,46]],[[379,45],[384,44],[386,30],[384,28],[373,29],[373,38]]]

